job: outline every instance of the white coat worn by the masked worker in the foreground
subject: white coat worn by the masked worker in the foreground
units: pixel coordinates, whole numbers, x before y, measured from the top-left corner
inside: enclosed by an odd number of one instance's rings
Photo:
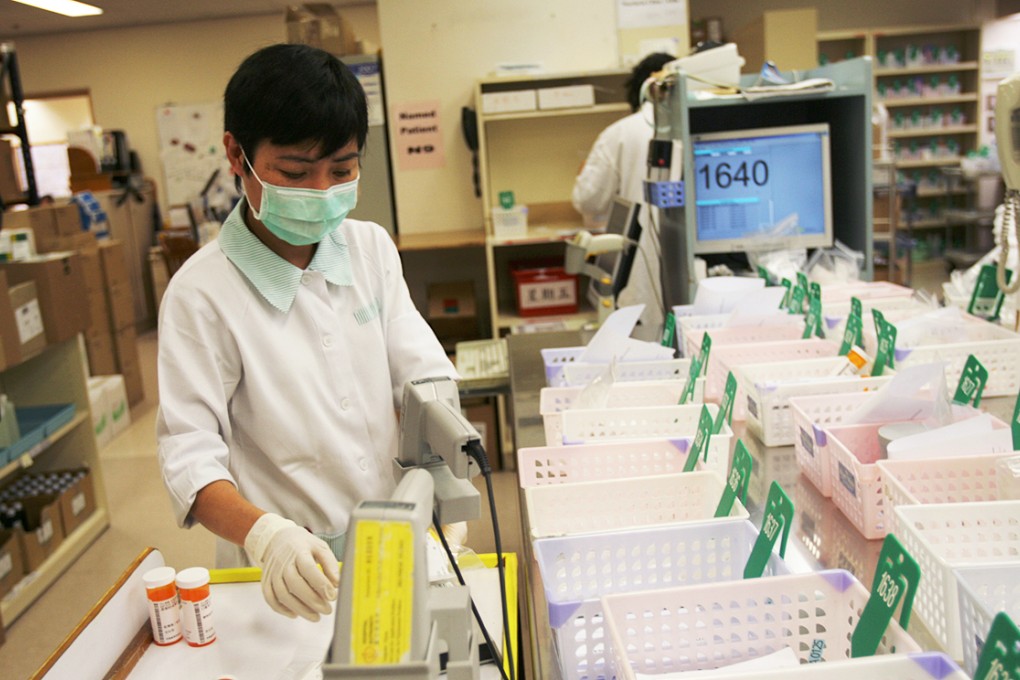
[[[170,280],[160,307],[157,435],[182,526],[193,522],[198,491],[225,479],[265,511],[319,535],[343,534],[358,502],[395,488],[404,383],[457,377],[411,301],[389,234],[350,219],[339,228],[352,284],[306,270],[286,313],[219,242]],[[218,566],[244,564],[243,548],[219,541]]]

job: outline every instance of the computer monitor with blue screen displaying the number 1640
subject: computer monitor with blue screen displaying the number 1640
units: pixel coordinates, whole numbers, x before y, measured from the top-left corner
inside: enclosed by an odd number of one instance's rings
[[[696,254],[832,245],[827,123],[691,136]]]

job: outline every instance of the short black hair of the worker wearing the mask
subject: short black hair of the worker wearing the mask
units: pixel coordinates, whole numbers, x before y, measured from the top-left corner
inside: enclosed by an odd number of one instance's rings
[[[325,158],[368,135],[365,92],[328,52],[308,45],[270,45],[250,55],[223,93],[223,129],[249,154],[261,142],[315,143]],[[247,169],[246,169],[247,171]]]

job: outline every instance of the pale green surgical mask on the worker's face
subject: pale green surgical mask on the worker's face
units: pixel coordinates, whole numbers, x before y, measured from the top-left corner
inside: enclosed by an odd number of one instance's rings
[[[262,185],[262,202],[258,209],[252,206],[255,219],[292,246],[310,246],[322,241],[358,203],[357,179],[324,190],[277,187],[259,178],[247,155],[245,162]]]

